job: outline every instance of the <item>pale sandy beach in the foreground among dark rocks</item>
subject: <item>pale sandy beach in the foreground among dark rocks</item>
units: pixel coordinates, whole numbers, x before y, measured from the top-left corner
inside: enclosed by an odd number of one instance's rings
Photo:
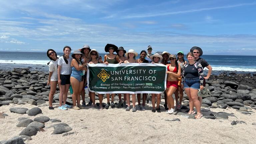
[[[97,102],[97,101],[96,101]],[[106,102],[104,99],[103,102]],[[136,105],[137,106],[137,105]],[[1,139],[6,140],[19,133],[23,127],[16,127],[19,117],[34,119],[38,116],[47,116],[51,119],[57,118],[61,122],[68,124],[74,134],[63,136],[63,134],[52,135],[53,128],[44,128],[39,131],[32,140],[26,140],[26,144],[45,143],[255,143],[255,109],[250,110],[251,115],[245,115],[236,109],[210,109],[212,112],[233,113],[225,119],[188,119],[179,115],[166,114],[161,105],[161,113],[152,113],[152,105],[147,104],[146,111],[132,112],[125,111],[124,108],[109,108],[98,110],[96,108],[86,108],[83,110],[69,109],[59,110],[55,105],[54,110],[49,110],[48,106],[39,107],[42,114],[28,116],[27,114],[17,114],[9,111],[11,107],[25,107],[31,109],[34,105],[10,104],[1,106],[0,112],[8,114],[0,119]],[[168,121],[175,118],[180,121]],[[232,121],[244,121],[246,124],[231,125]],[[46,122],[48,127],[52,122]]]

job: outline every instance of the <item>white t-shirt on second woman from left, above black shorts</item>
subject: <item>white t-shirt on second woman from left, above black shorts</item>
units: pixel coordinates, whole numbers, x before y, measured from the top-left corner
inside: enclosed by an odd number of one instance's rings
[[[58,60],[58,65],[61,66],[61,71],[60,71],[60,74],[62,75],[70,75],[71,72],[72,72],[72,69],[71,69],[71,60],[73,58],[70,56],[68,60],[68,64],[66,64],[63,56],[61,56]]]

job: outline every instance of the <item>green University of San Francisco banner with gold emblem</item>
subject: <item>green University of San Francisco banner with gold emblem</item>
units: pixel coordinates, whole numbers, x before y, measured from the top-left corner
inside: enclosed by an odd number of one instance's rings
[[[91,92],[162,93],[166,88],[166,66],[152,63],[88,64]]]

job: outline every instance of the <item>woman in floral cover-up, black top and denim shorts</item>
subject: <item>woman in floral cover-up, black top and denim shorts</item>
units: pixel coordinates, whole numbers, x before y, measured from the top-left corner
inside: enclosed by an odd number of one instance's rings
[[[198,100],[198,89],[203,89],[204,73],[203,67],[200,63],[195,61],[195,56],[192,52],[187,54],[188,63],[183,67],[181,87],[185,88],[186,94],[189,98],[189,112],[188,114],[195,114],[194,106],[196,107],[196,119],[200,119],[203,115],[201,113],[201,103]]]

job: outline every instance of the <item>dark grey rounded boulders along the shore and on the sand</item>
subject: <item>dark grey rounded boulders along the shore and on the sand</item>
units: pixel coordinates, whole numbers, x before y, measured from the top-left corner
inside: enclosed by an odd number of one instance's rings
[[[39,71],[30,71],[27,68],[13,69],[11,71],[0,71],[0,108],[16,104],[16,107],[10,108],[10,112],[18,114],[27,114],[28,116],[36,116],[42,113],[40,107],[46,107],[50,92],[50,87],[47,86],[48,73]],[[212,75],[206,82],[210,93],[203,96],[202,113],[206,119],[228,119],[229,116],[234,116],[227,112],[212,112],[210,108],[220,109],[237,109],[241,114],[252,115],[253,109],[256,109],[256,76],[248,74],[220,74],[218,76]],[[57,88],[54,95],[54,104],[58,105],[59,89]],[[105,96],[104,96],[105,97]],[[163,97],[162,97],[163,98]],[[115,98],[118,100],[118,97]],[[97,97],[96,97],[97,100]],[[86,102],[89,98],[86,98]],[[148,104],[151,104],[151,97],[147,97]],[[19,107],[19,105],[35,105],[31,109]],[[72,105],[71,96],[67,99],[67,104]],[[163,102],[161,102],[163,104]],[[189,106],[188,97],[184,94],[183,107],[177,110],[175,115],[180,115],[189,119],[194,119],[194,115],[188,115],[187,109]],[[162,108],[164,109],[164,108]],[[0,119],[8,115],[0,112]],[[44,123],[54,121],[46,116],[34,118],[19,118],[17,127],[25,127],[19,134],[9,140],[0,141],[5,142],[20,142],[30,140],[31,136],[37,134],[38,131],[44,131]],[[166,119],[165,121],[180,121],[176,118],[173,120]],[[60,122],[60,120],[57,120]],[[244,121],[233,121],[231,125],[243,124]],[[252,123],[255,125],[255,123]],[[54,132],[52,134],[62,134],[72,130],[66,123],[59,123],[52,125]],[[32,132],[32,133],[31,133]],[[72,134],[66,133],[66,135]]]

